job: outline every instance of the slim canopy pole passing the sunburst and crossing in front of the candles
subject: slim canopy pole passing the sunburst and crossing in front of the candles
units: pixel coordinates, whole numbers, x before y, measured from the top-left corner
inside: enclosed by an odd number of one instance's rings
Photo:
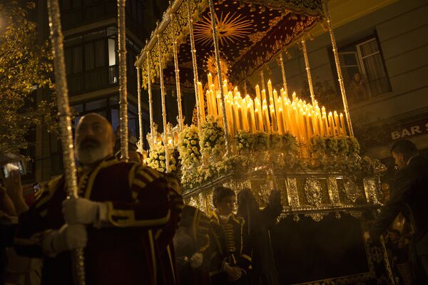
[[[223,88],[221,88],[221,86],[223,86],[223,79],[221,77],[220,50],[218,48],[218,36],[217,36],[217,28],[215,23],[215,11],[214,11],[213,0],[208,0],[208,3],[210,4],[211,24],[213,26],[215,62],[217,63],[218,86],[220,86],[221,110],[222,110],[222,117],[223,117],[223,126],[225,128],[226,155],[228,155],[230,153],[229,128],[228,128],[228,119],[226,118],[225,94],[223,92]]]

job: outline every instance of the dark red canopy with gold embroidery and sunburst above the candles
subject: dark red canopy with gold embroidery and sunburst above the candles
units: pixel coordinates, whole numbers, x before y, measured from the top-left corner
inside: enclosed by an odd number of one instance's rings
[[[285,46],[312,28],[322,16],[322,1],[225,0],[215,1],[220,51],[231,63],[230,78],[235,83],[270,61]],[[206,0],[176,0],[136,60],[141,68],[142,87],[147,88],[148,66],[152,81],[159,81],[157,42],[161,42],[161,62],[165,84],[173,85],[173,43],[178,47],[180,84],[193,86],[192,49],[189,20],[194,23],[198,68],[204,68],[213,55],[213,32]],[[148,61],[148,62],[147,62]]]

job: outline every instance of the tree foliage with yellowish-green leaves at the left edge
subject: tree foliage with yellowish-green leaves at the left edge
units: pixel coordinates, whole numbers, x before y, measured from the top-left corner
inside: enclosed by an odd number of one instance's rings
[[[54,90],[53,55],[38,44],[36,24],[28,19],[35,4],[0,1],[0,152],[25,148],[25,135],[36,125],[56,130],[55,94],[35,101],[34,86]]]

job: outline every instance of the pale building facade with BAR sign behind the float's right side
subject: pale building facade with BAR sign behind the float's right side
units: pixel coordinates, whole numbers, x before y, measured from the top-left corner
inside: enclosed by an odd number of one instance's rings
[[[428,152],[428,2],[330,0],[332,24],[355,136],[362,150],[387,164],[395,140],[407,138]],[[328,31],[307,41],[315,97],[343,110]],[[285,57],[289,90],[309,93],[302,51]],[[277,63],[267,67],[282,84]],[[265,74],[269,73],[265,71]]]

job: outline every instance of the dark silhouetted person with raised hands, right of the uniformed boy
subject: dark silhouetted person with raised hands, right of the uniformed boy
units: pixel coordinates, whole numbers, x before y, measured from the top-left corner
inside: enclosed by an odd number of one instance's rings
[[[248,224],[250,243],[253,244],[252,284],[278,284],[275,257],[272,250],[269,230],[276,224],[277,217],[282,213],[281,194],[279,191],[270,193],[267,206],[260,210],[250,189],[238,193],[238,216]]]

